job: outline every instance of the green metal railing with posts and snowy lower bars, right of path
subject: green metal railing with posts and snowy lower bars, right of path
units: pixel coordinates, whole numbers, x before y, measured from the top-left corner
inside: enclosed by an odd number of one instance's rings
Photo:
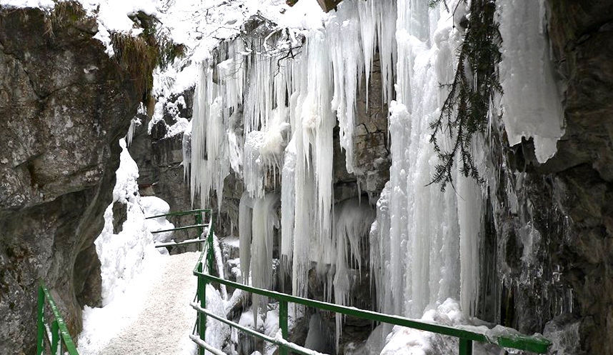
[[[212,217],[212,216],[211,216]],[[236,329],[256,336],[259,339],[264,339],[269,343],[279,346],[280,354],[286,355],[288,351],[293,351],[299,354],[312,355],[314,351],[305,349],[297,344],[287,341],[288,331],[288,312],[287,304],[292,302],[294,304],[301,304],[303,306],[309,306],[316,309],[323,309],[325,311],[333,311],[344,315],[356,316],[362,319],[369,319],[372,321],[394,324],[399,326],[406,326],[407,328],[419,329],[422,331],[432,331],[434,333],[443,334],[446,336],[454,336],[459,339],[459,355],[472,355],[472,343],[473,341],[479,341],[482,343],[495,344],[507,349],[517,349],[524,351],[532,351],[537,354],[547,353],[547,349],[552,345],[552,342],[545,339],[542,336],[525,336],[517,334],[514,329],[509,329],[509,332],[501,332],[500,334],[483,334],[478,331],[471,331],[467,329],[461,329],[452,326],[443,326],[439,324],[428,323],[425,321],[417,321],[415,319],[408,319],[402,316],[394,316],[390,314],[382,314],[375,311],[367,311],[364,309],[357,309],[354,307],[340,306],[338,304],[330,304],[322,301],[315,301],[312,299],[304,299],[302,297],[291,296],[289,294],[282,294],[276,291],[269,291],[265,289],[258,289],[256,287],[239,284],[233,281],[220,279],[219,277],[209,274],[213,269],[213,219],[211,218],[211,224],[209,228],[209,234],[206,237],[206,248],[202,251],[196,266],[194,267],[194,276],[198,277],[198,289],[196,291],[195,301],[191,303],[191,307],[198,312],[198,319],[196,320],[196,326],[194,327],[194,333],[190,336],[191,340],[199,346],[199,355],[204,355],[204,351],[210,351],[213,354],[223,354],[218,349],[214,349],[213,346],[206,343],[206,317],[210,316],[217,321],[221,321],[224,324],[228,324]],[[203,258],[206,254],[206,268],[203,265]],[[209,272],[206,272],[209,271]],[[229,321],[224,317],[217,316],[211,311],[206,309],[206,285],[214,282],[225,286],[234,287],[235,289],[241,289],[243,291],[251,292],[253,294],[259,294],[271,299],[279,301],[279,329],[280,334],[270,337],[261,334],[252,329],[248,329],[244,326],[236,324],[233,321]]]

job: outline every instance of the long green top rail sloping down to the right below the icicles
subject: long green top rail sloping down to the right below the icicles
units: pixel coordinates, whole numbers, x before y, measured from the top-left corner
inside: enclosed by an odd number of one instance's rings
[[[360,318],[370,319],[372,321],[379,321],[383,323],[396,324],[399,326],[407,326],[412,329],[419,329],[423,331],[432,331],[434,333],[455,336],[457,338],[468,339],[473,341],[481,341],[484,343],[497,344],[504,347],[512,347],[514,349],[533,351],[539,354],[544,354],[552,344],[547,339],[538,339],[523,335],[503,335],[497,337],[488,338],[485,334],[475,333],[473,331],[467,331],[464,329],[456,329],[450,326],[442,326],[439,324],[430,324],[423,321],[416,321],[414,319],[408,319],[401,316],[394,316],[390,314],[382,314],[375,311],[367,311],[364,309],[357,309],[355,307],[340,306],[338,304],[329,304],[327,302],[316,301],[313,299],[304,299],[298,296],[291,296],[289,294],[281,294],[276,291],[269,291],[264,289],[257,289],[252,286],[239,284],[237,282],[220,279],[219,277],[211,276],[194,270],[194,275],[203,277],[209,282],[219,282],[226,286],[234,287],[235,289],[242,289],[244,291],[252,292],[254,294],[261,294],[272,299],[279,301],[289,301],[296,304],[303,304],[304,306],[310,306],[318,309],[324,309],[327,311],[333,311],[340,314],[347,314],[350,316],[357,316]]]

